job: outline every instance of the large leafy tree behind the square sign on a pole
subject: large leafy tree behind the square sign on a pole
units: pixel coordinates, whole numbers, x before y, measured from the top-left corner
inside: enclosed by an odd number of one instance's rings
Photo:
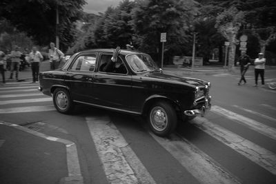
[[[137,1],[137,6],[132,10],[132,27],[141,41],[139,50],[152,55],[161,53],[160,33],[166,32],[165,57],[182,54],[195,14],[197,3],[193,0]]]

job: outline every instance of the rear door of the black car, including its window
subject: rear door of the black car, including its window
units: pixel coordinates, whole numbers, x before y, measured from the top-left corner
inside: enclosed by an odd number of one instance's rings
[[[74,101],[94,103],[93,79],[96,65],[96,52],[79,54],[70,64],[66,73],[66,83]]]

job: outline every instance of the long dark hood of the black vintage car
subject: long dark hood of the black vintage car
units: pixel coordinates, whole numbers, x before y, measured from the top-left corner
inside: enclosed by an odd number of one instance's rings
[[[195,79],[191,77],[180,77],[180,76],[175,76],[171,74],[164,74],[163,72],[151,72],[151,73],[145,74],[145,76],[152,79],[161,79],[161,80],[166,80],[170,82],[180,82],[180,83],[186,83],[188,85],[195,85],[195,86],[206,85],[208,83],[207,81],[204,81],[201,79]]]

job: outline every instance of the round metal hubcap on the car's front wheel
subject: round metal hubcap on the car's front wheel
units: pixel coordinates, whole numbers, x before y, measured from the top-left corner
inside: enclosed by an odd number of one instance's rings
[[[163,131],[168,125],[168,116],[165,110],[161,107],[155,107],[150,112],[150,123],[155,130]]]

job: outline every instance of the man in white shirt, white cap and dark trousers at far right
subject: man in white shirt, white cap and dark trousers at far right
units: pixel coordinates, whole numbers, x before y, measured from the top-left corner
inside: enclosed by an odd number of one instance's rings
[[[266,64],[266,59],[264,58],[264,53],[260,52],[259,57],[255,59],[255,87],[258,86],[258,76],[261,76],[262,79],[262,87],[264,87],[264,68]]]

